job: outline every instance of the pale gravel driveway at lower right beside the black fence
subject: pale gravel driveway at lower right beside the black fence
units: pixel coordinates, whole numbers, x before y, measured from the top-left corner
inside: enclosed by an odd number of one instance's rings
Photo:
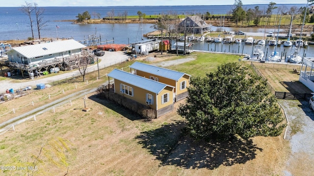
[[[279,100],[285,110],[290,143],[285,176],[313,176],[314,173],[314,111],[308,101]]]

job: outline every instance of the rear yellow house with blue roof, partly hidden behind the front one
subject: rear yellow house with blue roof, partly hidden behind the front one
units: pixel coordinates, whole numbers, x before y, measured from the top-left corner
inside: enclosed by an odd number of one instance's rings
[[[135,62],[130,68],[131,72],[134,69],[135,74],[138,76],[174,87],[173,97],[175,102],[184,99],[188,95],[186,88],[190,86],[189,79],[191,76],[186,73],[140,62]]]

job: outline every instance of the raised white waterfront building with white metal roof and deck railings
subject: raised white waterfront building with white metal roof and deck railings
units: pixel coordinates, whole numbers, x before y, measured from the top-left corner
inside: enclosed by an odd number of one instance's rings
[[[77,58],[92,56],[84,48],[85,45],[73,39],[12,47],[5,52],[8,60],[1,64],[5,64],[11,70],[21,70],[22,73],[24,70],[31,73],[34,70],[48,70],[56,66],[66,67]]]

